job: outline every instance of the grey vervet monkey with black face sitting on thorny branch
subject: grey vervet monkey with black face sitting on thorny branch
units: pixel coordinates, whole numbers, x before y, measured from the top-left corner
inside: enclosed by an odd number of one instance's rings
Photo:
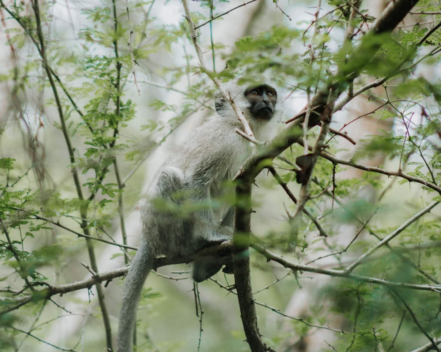
[[[240,89],[226,86],[257,139],[265,140],[272,129],[277,92],[267,84]],[[241,123],[230,104],[215,99],[217,115],[197,128],[161,166],[147,191],[142,209],[142,239],[127,273],[118,330],[118,352],[132,351],[136,308],[153,259],[158,255],[187,256],[210,244],[231,239],[234,209],[214,209],[212,201],[224,195],[250,155],[250,142],[235,133]],[[230,187],[231,188],[231,187]],[[191,205],[199,205],[191,212]],[[202,207],[202,205],[205,205]],[[222,264],[195,260],[193,280],[216,274]],[[225,270],[224,270],[225,271]],[[226,271],[231,272],[231,268]]]

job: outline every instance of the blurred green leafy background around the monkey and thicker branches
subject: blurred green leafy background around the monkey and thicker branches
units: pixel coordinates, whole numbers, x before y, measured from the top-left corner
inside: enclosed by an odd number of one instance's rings
[[[336,159],[319,158],[314,168],[306,209],[328,238],[306,216],[293,224],[295,205],[270,174],[258,177],[252,231],[266,248],[302,264],[345,268],[441,201],[441,32],[424,39],[441,23],[440,1],[420,0],[392,35],[381,36],[364,34],[388,2],[364,1],[350,38],[357,1],[190,3],[208,74],[177,0],[0,0],[2,352],[99,351],[114,342],[121,279],[49,299],[42,289],[128,263],[132,250],[93,238],[137,245],[149,180],[213,113],[209,77],[265,77],[279,92],[282,121],[337,70],[361,73],[353,83],[340,77],[348,92],[386,78],[333,116],[331,127],[356,146],[329,134],[324,151]],[[304,142],[314,145],[317,135],[311,129]],[[302,154],[293,145],[274,162],[294,194]],[[356,273],[439,285],[440,244],[434,208]],[[439,293],[292,272],[254,251],[251,265],[262,338],[279,351],[411,351],[441,337]],[[248,350],[228,290],[232,275],[196,287],[188,270],[176,265],[149,275],[136,350]]]

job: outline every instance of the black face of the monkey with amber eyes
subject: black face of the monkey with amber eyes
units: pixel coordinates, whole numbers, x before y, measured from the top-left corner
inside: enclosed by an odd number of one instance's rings
[[[270,120],[274,115],[277,103],[277,92],[269,85],[262,84],[245,91],[245,97],[250,102],[251,115],[256,119]]]

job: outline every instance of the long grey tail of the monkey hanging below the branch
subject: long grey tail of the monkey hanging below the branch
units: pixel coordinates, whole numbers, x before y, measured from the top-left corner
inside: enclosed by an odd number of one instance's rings
[[[124,282],[123,298],[120,311],[117,352],[131,352],[133,330],[136,322],[136,308],[138,308],[139,297],[142,286],[147,275],[153,269],[153,254],[145,238],[142,238],[135,258],[127,273]]]

